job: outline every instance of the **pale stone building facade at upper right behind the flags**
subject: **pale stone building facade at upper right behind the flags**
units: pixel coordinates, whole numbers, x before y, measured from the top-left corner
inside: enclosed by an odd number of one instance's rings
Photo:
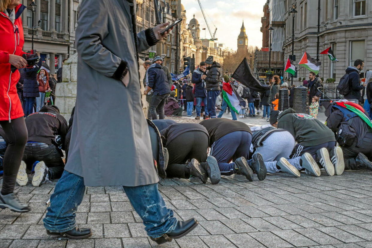
[[[320,1],[320,32],[318,33],[318,1],[285,1],[284,60],[292,52],[292,2],[298,13],[295,14],[295,65],[304,52],[312,57],[318,52],[332,47],[339,62],[332,62],[327,55],[319,55],[321,61],[320,77],[324,80],[334,78],[336,83],[355,59],[365,61],[366,70],[372,67],[372,1],[370,0],[322,0]],[[307,78],[308,71],[302,69],[298,77]]]

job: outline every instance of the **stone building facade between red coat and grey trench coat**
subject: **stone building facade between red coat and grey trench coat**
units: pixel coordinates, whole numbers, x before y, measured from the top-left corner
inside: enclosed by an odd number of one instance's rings
[[[33,48],[41,54],[50,73],[62,66],[62,60],[76,52],[75,27],[77,24],[78,0],[35,0],[36,11],[32,23],[31,0],[21,0],[27,7],[22,13],[25,33],[24,51],[32,47],[32,27],[34,27]],[[39,22],[40,21],[40,22]]]

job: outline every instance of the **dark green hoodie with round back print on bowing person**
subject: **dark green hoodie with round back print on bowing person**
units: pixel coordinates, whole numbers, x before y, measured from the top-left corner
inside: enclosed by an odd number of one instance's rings
[[[289,108],[280,113],[278,128],[287,130],[303,146],[316,146],[336,141],[334,133],[323,123],[308,114],[296,113]]]

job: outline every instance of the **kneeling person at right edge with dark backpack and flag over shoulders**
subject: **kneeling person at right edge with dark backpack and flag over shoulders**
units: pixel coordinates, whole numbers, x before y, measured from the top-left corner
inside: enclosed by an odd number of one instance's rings
[[[324,102],[326,125],[334,133],[341,145],[345,170],[372,170],[372,128],[352,111]],[[350,136],[346,136],[346,135]]]

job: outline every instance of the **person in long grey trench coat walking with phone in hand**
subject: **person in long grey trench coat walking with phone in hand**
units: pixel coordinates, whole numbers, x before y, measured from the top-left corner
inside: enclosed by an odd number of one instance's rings
[[[65,171],[44,219],[47,233],[80,239],[76,227],[85,186],[124,186],[148,235],[158,244],[180,238],[198,222],[177,221],[158,192],[147,122],[142,114],[138,52],[170,32],[168,23],[136,33],[133,0],[83,0],[76,45],[77,97]]]

